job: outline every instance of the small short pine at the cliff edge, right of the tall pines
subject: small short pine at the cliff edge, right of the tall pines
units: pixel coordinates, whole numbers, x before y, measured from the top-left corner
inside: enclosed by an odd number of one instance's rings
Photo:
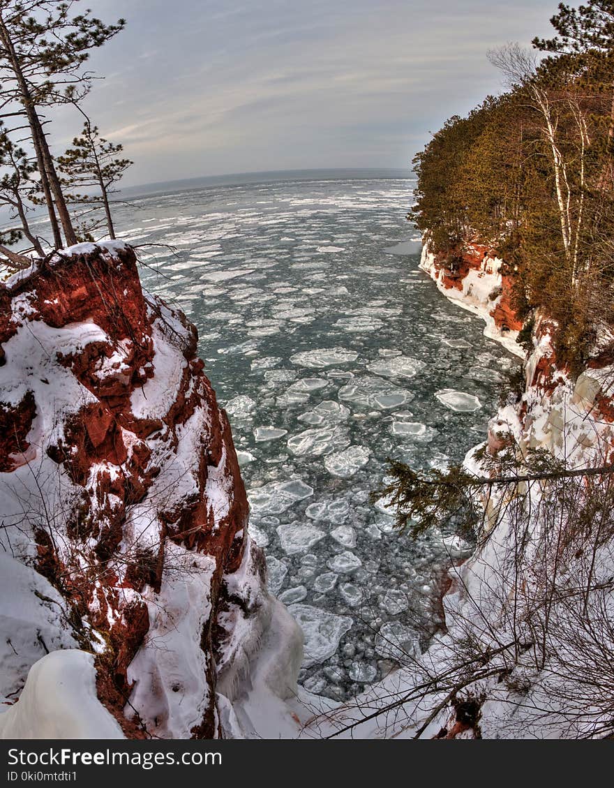
[[[119,156],[123,150],[122,145],[103,139],[99,135],[98,127],[92,126],[90,121],[86,120],[81,136],[75,137],[73,147],[58,156],[57,160],[58,169],[64,175],[61,179],[62,186],[69,190],[92,187],[99,189],[99,195],[84,195],[71,191],[67,199],[70,203],[102,205],[109,237],[113,239],[115,229],[109,195],[116,191],[113,184],[117,184],[132,165],[130,159]]]

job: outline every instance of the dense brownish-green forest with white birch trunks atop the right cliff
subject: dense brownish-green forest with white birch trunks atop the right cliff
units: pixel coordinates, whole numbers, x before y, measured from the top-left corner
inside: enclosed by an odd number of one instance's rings
[[[416,155],[410,218],[452,268],[463,244],[491,245],[523,337],[540,311],[558,357],[581,369],[614,324],[614,2],[561,3],[551,22],[534,50],[489,53],[507,90]]]

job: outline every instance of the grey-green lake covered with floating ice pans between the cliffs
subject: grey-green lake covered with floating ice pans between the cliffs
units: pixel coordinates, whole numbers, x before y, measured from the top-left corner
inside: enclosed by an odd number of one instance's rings
[[[176,247],[140,249],[143,282],[199,329],[251,535],[305,632],[300,681],[331,697],[381,678],[437,624],[449,535],[393,532],[368,500],[386,460],[462,459],[517,363],[419,271],[412,186],[215,186],[117,212],[125,240]]]

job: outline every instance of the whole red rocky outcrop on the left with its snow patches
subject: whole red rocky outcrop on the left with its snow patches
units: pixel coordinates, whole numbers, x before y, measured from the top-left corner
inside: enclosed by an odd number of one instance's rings
[[[118,242],[33,262],[0,306],[2,547],[54,589],[58,644],[95,655],[125,735],[223,734],[218,665],[240,624],[249,671],[273,603],[194,326],[143,292]]]

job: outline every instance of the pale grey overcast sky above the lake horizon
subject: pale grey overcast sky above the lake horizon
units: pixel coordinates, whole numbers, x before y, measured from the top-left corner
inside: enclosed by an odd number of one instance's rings
[[[125,17],[86,108],[136,163],[125,185],[271,169],[407,167],[549,32],[556,0],[89,0]],[[70,125],[74,123],[75,126]],[[62,117],[56,139],[79,127]]]

